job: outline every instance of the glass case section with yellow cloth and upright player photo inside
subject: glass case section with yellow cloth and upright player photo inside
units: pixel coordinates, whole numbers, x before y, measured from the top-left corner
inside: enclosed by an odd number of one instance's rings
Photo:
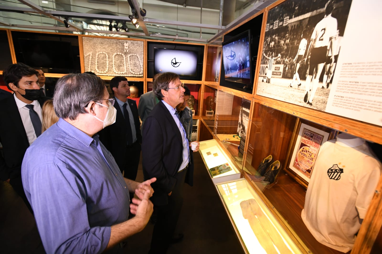
[[[214,134],[221,141],[236,167],[243,167],[243,154],[248,132],[251,101],[219,91]]]

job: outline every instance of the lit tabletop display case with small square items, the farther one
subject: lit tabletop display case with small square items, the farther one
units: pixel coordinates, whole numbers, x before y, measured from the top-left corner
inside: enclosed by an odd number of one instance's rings
[[[200,142],[199,151],[212,182],[219,183],[240,178],[240,171],[215,139]]]

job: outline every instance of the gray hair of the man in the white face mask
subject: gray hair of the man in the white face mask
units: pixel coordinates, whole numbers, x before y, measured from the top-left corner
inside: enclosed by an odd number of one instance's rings
[[[85,114],[91,101],[101,102],[104,97],[105,82],[87,73],[68,74],[58,79],[53,107],[58,117],[76,119]]]

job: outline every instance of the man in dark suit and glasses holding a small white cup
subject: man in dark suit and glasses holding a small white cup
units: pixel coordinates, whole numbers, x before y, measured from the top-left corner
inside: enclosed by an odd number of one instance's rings
[[[144,178],[157,177],[157,182],[152,184],[151,200],[157,209],[157,221],[150,254],[165,253],[170,243],[183,238],[181,234],[174,235],[174,231],[183,204],[186,176],[188,181],[193,180],[193,172],[188,169],[190,147],[186,130],[175,110],[176,105],[184,101],[183,84],[178,74],[165,72],[154,82],[153,89],[160,101],[142,129]]]

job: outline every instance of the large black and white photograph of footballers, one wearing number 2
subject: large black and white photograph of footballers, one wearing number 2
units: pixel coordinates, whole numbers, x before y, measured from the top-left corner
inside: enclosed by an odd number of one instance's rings
[[[286,0],[267,17],[256,94],[325,111],[352,0]]]

